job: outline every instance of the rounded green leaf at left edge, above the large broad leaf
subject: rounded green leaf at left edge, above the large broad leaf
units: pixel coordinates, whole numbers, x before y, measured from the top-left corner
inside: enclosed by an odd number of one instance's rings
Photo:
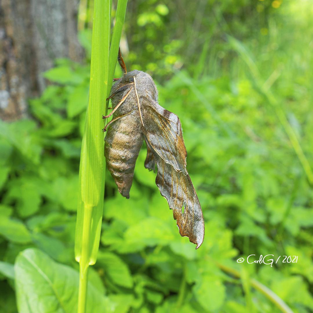
[[[26,226],[21,221],[4,215],[0,215],[0,234],[19,244],[31,242],[31,236]]]

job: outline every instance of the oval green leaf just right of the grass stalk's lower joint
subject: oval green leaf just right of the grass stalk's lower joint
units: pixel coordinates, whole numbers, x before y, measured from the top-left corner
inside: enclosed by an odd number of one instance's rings
[[[133,280],[128,266],[114,253],[98,252],[98,262],[105,268],[105,272],[117,285],[131,288]]]

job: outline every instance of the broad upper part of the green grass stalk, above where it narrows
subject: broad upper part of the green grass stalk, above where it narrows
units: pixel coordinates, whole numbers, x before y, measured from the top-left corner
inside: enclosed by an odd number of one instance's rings
[[[103,170],[104,134],[101,115],[105,111],[108,82],[110,1],[95,1],[92,32],[90,95],[85,144],[82,149],[81,195],[85,205],[98,205]]]

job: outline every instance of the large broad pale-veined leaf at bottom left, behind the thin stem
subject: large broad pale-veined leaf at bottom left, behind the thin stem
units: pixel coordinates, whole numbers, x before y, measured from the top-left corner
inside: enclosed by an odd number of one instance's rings
[[[15,262],[19,313],[76,313],[79,273],[38,249],[26,249]],[[109,299],[89,282],[86,312],[113,312]]]

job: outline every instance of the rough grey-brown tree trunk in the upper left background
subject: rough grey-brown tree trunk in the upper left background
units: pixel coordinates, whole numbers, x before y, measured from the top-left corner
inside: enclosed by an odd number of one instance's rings
[[[27,98],[44,90],[40,75],[55,58],[80,61],[78,0],[0,0],[0,118],[27,115]]]

